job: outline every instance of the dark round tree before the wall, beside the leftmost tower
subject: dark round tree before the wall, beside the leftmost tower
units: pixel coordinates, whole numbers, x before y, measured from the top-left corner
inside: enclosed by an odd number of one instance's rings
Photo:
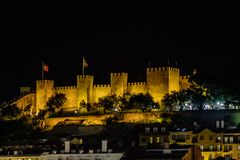
[[[58,93],[53,95],[47,101],[47,111],[52,113],[60,113],[63,111],[63,105],[67,101],[66,95]]]

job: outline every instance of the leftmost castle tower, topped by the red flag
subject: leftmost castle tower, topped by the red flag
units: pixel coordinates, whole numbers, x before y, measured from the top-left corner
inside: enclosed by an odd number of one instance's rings
[[[45,109],[46,102],[53,96],[54,81],[38,80],[36,82],[36,113],[41,109]]]

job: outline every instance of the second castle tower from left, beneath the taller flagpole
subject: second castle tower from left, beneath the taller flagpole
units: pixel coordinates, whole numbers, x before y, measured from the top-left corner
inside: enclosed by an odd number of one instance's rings
[[[78,75],[77,76],[77,106],[84,100],[86,103],[92,104],[93,76]]]

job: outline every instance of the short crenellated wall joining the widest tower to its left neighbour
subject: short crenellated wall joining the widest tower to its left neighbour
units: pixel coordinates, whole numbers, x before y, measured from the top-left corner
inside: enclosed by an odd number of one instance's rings
[[[147,93],[147,84],[145,82],[128,83],[127,92],[131,94]]]

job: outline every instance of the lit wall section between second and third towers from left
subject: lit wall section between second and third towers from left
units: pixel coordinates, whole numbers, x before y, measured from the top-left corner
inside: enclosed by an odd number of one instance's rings
[[[111,86],[109,84],[98,84],[93,86],[92,102],[95,103],[99,98],[111,94]]]

